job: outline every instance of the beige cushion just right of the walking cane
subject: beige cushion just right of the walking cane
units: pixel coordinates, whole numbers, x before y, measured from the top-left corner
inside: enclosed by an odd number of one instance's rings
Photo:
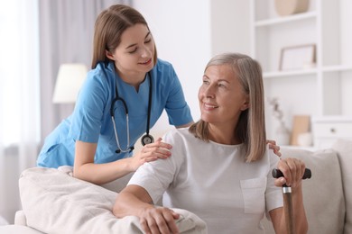
[[[309,233],[342,233],[345,201],[337,153],[331,149],[310,152],[297,148],[282,148],[281,152],[283,157],[300,158],[311,170],[311,178],[303,181]],[[265,233],[274,233],[271,223],[263,223]]]

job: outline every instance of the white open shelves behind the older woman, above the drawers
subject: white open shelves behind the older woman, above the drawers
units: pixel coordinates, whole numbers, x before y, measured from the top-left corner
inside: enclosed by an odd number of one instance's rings
[[[267,97],[277,97],[291,128],[293,115],[352,116],[352,1],[310,0],[307,12],[280,16],[274,0],[251,0],[251,55],[264,71]],[[314,44],[314,67],[281,71],[283,48]],[[268,137],[277,121],[266,107]],[[330,118],[330,117],[329,117]],[[352,133],[351,133],[352,134]]]

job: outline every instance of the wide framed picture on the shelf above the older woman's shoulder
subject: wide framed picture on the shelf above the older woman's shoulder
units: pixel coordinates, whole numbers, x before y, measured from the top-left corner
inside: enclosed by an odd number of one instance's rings
[[[315,67],[315,44],[285,47],[281,50],[280,70]]]

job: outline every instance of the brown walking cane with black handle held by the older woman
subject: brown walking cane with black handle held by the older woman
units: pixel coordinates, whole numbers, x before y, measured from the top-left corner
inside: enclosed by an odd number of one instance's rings
[[[279,169],[273,169],[273,177],[283,177],[283,172]],[[311,171],[306,168],[302,179],[309,179]],[[293,207],[292,207],[292,189],[290,186],[283,184],[283,211],[285,213],[286,229],[288,234],[296,234],[293,221]]]

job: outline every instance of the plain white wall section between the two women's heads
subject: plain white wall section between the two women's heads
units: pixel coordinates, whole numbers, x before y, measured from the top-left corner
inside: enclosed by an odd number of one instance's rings
[[[211,57],[208,0],[136,0],[134,8],[149,23],[159,58],[174,66],[193,118],[198,120],[198,87]],[[164,113],[154,129],[164,130],[168,125]]]

